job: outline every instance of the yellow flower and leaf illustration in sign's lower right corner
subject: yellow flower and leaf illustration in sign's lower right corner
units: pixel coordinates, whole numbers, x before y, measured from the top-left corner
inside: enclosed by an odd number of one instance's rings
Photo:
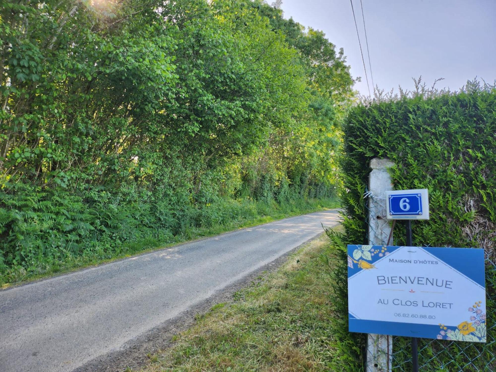
[[[482,301],[477,301],[468,308],[472,313],[469,320],[462,321],[455,329],[447,329],[444,324],[437,335],[438,340],[486,342],[486,313],[481,308]]]

